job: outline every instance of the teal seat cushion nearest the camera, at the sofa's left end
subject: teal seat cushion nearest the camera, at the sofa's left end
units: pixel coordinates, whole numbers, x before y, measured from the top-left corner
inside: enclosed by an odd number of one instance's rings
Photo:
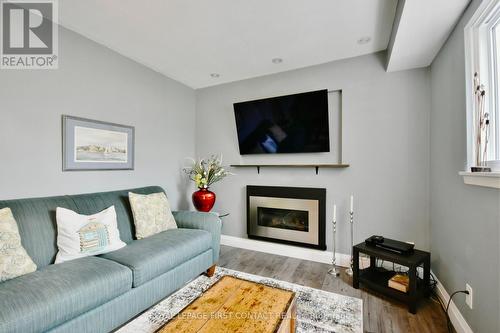
[[[132,272],[98,257],[50,265],[0,283],[0,332],[46,331],[122,295]]]

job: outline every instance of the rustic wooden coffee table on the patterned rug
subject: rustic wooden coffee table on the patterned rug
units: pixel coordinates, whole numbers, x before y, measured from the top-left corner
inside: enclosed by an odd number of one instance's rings
[[[224,276],[157,332],[289,333],[296,309],[292,291]]]

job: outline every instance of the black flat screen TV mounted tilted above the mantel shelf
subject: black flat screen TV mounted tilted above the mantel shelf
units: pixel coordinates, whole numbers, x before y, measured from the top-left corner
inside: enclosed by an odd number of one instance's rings
[[[328,91],[234,104],[240,154],[330,151]]]

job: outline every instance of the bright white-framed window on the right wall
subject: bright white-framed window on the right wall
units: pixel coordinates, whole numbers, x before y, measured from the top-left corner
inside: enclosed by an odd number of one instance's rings
[[[468,166],[475,165],[476,103],[474,75],[486,90],[484,110],[488,113],[488,166],[500,171],[500,2],[484,1],[465,27],[467,80]]]

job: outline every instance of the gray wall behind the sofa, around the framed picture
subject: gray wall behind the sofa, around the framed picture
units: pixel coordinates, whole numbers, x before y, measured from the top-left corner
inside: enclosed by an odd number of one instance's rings
[[[0,72],[0,198],[154,184],[187,207],[194,90],[69,30],[59,43],[58,70]],[[135,126],[135,170],[62,172],[62,114]]]

